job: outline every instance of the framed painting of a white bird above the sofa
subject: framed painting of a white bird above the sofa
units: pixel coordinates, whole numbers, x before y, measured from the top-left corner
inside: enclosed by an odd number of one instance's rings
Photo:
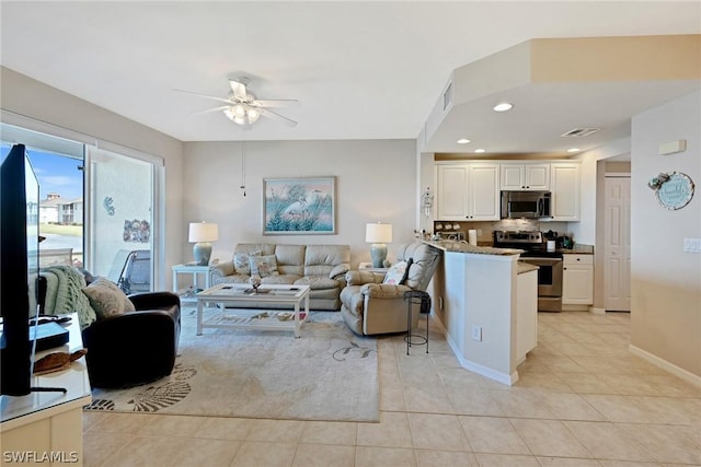
[[[335,233],[335,176],[263,178],[263,235]]]

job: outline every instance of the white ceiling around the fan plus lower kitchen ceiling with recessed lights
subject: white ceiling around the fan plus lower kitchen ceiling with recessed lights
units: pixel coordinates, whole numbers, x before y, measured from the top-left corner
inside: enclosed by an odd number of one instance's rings
[[[0,9],[2,66],[182,141],[413,139],[455,69],[516,44],[701,33],[701,1],[2,1]],[[279,109],[297,127],[261,118],[246,131],[220,112],[202,113],[216,102],[173,91],[226,97],[227,79],[239,75],[260,98],[298,100]],[[428,149],[472,151],[455,144],[467,136],[490,152],[561,151],[563,131],[606,125],[584,142],[593,147],[627,136],[631,115],[689,91],[627,87],[629,98],[612,101],[620,92],[513,90],[505,97],[521,112],[508,121],[495,120],[486,102],[462,105]],[[542,106],[563,96],[564,112]]]

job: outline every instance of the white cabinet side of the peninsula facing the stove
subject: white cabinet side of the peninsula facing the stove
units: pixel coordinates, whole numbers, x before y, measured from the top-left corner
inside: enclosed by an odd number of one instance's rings
[[[538,270],[518,275],[516,284],[516,364],[520,364],[538,345]]]

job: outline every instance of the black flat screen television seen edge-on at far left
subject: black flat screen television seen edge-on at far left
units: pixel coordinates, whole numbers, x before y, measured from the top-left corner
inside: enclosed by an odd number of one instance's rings
[[[39,186],[23,144],[0,168],[0,394],[32,392],[30,319],[38,314]]]

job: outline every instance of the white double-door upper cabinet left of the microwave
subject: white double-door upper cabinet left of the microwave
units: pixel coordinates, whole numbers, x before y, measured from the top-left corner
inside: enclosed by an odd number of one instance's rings
[[[492,163],[439,164],[438,221],[497,221],[499,166]]]

